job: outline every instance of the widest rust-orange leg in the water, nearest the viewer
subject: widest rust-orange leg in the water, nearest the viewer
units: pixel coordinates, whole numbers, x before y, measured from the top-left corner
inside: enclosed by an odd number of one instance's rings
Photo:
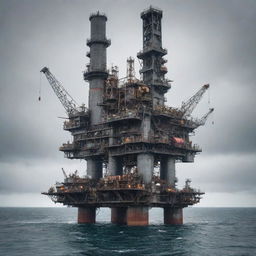
[[[148,225],[148,207],[135,206],[127,208],[128,226],[147,226]]]

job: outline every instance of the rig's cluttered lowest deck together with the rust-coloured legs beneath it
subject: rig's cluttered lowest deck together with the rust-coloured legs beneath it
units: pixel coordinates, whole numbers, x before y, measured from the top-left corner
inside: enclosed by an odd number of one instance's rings
[[[96,209],[111,208],[111,222],[130,226],[148,225],[148,211],[163,208],[165,224],[182,224],[183,208],[199,203],[204,194],[190,187],[173,188],[159,177],[145,184],[138,174],[109,176],[100,180],[72,177],[51,187],[53,202],[78,208],[78,223],[95,223]]]

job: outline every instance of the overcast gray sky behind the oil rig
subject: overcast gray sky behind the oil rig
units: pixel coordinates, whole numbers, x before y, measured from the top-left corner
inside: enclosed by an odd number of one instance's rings
[[[190,177],[205,190],[199,206],[256,206],[254,0],[0,0],[0,206],[52,206],[40,192],[63,179],[61,167],[85,172],[85,161],[58,151],[71,136],[62,130],[57,117],[65,112],[45,77],[37,101],[40,69],[49,66],[87,104],[82,71],[90,13],[107,14],[108,65],[118,65],[123,76],[127,57],[142,48],[140,12],[151,4],[163,10],[167,77],[174,80],[168,105],[180,106],[210,83],[194,116],[215,108],[192,137],[203,152],[194,164],[177,164],[179,186]]]

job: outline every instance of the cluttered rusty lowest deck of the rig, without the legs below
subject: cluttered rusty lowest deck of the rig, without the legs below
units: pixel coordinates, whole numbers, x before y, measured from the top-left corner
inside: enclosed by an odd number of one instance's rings
[[[65,205],[87,205],[95,207],[136,206],[187,207],[200,201],[204,194],[186,182],[182,190],[154,176],[150,184],[137,174],[108,176],[99,181],[73,176],[66,182],[51,187],[48,193],[56,203]]]

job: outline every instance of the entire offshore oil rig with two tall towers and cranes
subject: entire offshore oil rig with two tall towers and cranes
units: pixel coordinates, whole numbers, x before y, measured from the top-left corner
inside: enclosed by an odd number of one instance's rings
[[[183,208],[196,204],[204,194],[190,186],[176,188],[175,163],[193,162],[201,149],[189,135],[205,124],[209,111],[194,119],[191,113],[205,91],[202,86],[180,108],[165,105],[165,94],[171,88],[165,78],[167,68],[162,47],[162,11],[150,7],[141,13],[143,50],[141,79],[135,77],[134,59],[127,59],[127,75],[119,79],[118,68],[107,70],[107,17],[92,14],[91,38],[87,40],[90,63],[84,72],[89,82],[89,108],[75,102],[47,67],[46,75],[63,104],[68,120],[64,130],[73,142],[60,147],[66,158],[87,161],[87,174],[77,172],[42,194],[56,203],[78,208],[78,223],[95,223],[96,209],[111,208],[116,224],[147,225],[151,207],[161,207],[165,224],[182,224]]]

